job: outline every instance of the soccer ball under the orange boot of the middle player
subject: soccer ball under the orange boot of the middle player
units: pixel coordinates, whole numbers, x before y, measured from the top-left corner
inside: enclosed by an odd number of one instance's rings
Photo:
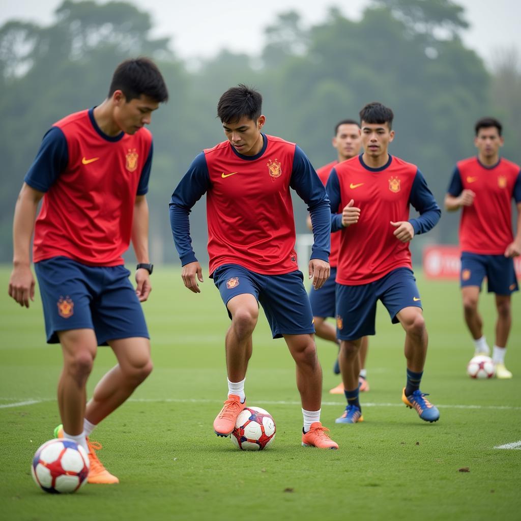
[[[275,438],[275,420],[261,407],[244,407],[231,433],[235,446],[243,451],[262,451]]]

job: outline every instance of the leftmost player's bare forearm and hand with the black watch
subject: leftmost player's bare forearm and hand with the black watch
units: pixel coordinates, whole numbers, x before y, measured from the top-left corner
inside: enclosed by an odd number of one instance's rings
[[[138,195],[134,202],[134,218],[132,221],[132,246],[138,264],[149,264],[148,257],[148,203],[145,195]],[[152,291],[150,273],[140,268],[135,272],[135,294],[140,302],[145,302]]]

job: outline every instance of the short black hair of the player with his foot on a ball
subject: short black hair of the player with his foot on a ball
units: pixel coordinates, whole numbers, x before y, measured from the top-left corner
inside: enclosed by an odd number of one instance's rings
[[[261,111],[261,93],[243,83],[230,87],[217,104],[217,117],[222,123],[235,123],[244,116],[257,121]]]

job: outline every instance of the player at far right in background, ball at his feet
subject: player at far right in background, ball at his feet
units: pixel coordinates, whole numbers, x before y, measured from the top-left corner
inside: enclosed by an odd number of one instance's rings
[[[500,158],[501,123],[481,118],[475,125],[477,157],[457,163],[445,208],[463,208],[460,222],[461,273],[465,322],[474,339],[475,354],[490,354],[478,311],[484,277],[495,293],[498,319],[492,359],[498,378],[512,378],[505,367],[505,352],[512,323],[511,294],[518,291],[513,257],[521,254],[521,172],[519,165]],[[517,205],[517,233],[512,233],[512,199]]]

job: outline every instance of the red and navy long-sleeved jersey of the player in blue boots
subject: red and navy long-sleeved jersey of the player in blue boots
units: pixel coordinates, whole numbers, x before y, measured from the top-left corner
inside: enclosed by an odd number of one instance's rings
[[[418,167],[391,155],[381,168],[368,167],[362,155],[339,163],[326,190],[331,229],[341,230],[336,280],[346,286],[373,282],[396,268],[412,268],[409,245],[394,237],[390,221],[409,221],[418,234],[429,231],[441,215]],[[360,218],[344,228],[341,213],[351,199],[360,208]],[[409,219],[410,205],[419,217]]]

